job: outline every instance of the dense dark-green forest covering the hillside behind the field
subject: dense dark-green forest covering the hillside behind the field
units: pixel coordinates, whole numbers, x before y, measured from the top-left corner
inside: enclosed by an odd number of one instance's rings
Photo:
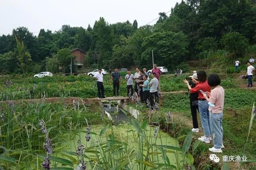
[[[24,44],[22,52],[15,36],[20,47]],[[151,67],[153,50],[155,63],[174,69],[218,50],[226,51],[227,59],[248,57],[256,53],[255,44],[254,1],[182,0],[170,14],[160,12],[153,26],[138,27],[136,20],[109,24],[100,17],[93,27],[63,25],[55,32],[41,29],[38,36],[26,27],[18,27],[11,35],[0,36],[0,61],[5,63],[0,72],[36,72],[39,68],[58,72],[61,67],[68,72],[68,53],[74,48],[87,52],[86,67]],[[24,57],[31,61],[24,61]]]

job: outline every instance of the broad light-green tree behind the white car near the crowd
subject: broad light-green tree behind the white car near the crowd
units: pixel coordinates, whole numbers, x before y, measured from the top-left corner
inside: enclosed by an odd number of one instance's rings
[[[168,68],[174,68],[175,65],[185,61],[188,55],[188,39],[182,32],[153,33],[144,39],[142,47],[145,48],[142,53],[144,60],[151,61],[153,50],[154,63]]]

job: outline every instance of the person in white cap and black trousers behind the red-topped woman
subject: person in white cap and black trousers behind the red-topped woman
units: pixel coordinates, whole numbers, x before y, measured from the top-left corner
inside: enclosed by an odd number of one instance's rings
[[[194,80],[198,80],[197,74],[194,73],[192,76],[189,77],[189,85],[191,88],[194,88],[196,86],[196,82]],[[192,115],[192,122],[193,122],[193,129],[192,132],[199,132],[198,129],[198,122],[197,122],[197,112],[198,110],[198,93],[190,93],[189,95],[189,100],[190,100],[190,110],[191,110],[191,115]]]

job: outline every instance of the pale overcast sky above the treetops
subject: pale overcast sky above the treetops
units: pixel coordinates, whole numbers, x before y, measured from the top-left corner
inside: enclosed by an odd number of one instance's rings
[[[101,16],[108,23],[137,20],[140,26],[170,11],[176,2],[181,0],[0,0],[0,35],[20,26],[31,32],[57,31],[64,24],[93,27]]]

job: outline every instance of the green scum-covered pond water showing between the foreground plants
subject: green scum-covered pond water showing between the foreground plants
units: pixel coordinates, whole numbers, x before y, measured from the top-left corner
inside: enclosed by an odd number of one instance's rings
[[[91,140],[89,142],[86,142],[86,127],[84,129],[80,129],[80,133],[78,133],[74,139],[68,140],[66,143],[63,143],[62,146],[64,146],[64,148],[62,149],[62,152],[68,153],[68,152],[76,152],[76,147],[77,147],[77,141],[80,139],[80,141],[82,142],[83,145],[86,146],[86,148],[88,147],[92,147],[92,146],[98,146],[98,141],[101,141],[100,143],[104,143],[106,142],[106,135],[109,136],[110,134],[114,135],[114,140],[115,141],[120,141],[121,143],[127,143],[128,145],[123,145],[122,148],[127,147],[127,149],[132,149],[134,150],[134,152],[138,152],[138,133],[136,128],[133,125],[130,125],[128,123],[124,123],[124,124],[119,124],[119,125],[113,125],[112,127],[108,127],[108,129],[106,130],[106,133],[103,133],[103,135],[99,138],[99,134],[100,131],[102,130],[102,128],[104,128],[104,126],[102,125],[92,125],[91,126]],[[168,134],[162,132],[162,131],[158,131],[158,135],[157,138],[155,140],[154,137],[154,131],[155,131],[156,127],[152,127],[152,126],[148,126],[146,128],[145,134],[146,134],[146,138],[148,139],[150,144],[155,144],[155,145],[168,145],[168,146],[178,146],[178,142],[176,141],[176,139],[170,137]],[[95,134],[97,135],[95,135]],[[109,138],[108,138],[109,140]],[[145,139],[144,139],[145,140]],[[146,140],[145,140],[146,141]],[[120,144],[121,145],[121,144]],[[144,143],[144,154],[147,153],[147,149],[146,149],[146,143]],[[92,150],[96,150],[96,149],[92,149]],[[156,147],[151,147],[149,149],[149,152],[156,152]],[[160,150],[158,149],[158,152],[160,152]],[[115,152],[113,152],[113,154],[115,154]],[[90,151],[85,151],[85,155],[90,157],[90,158],[96,158],[96,154],[95,153],[91,153]],[[70,155],[71,156],[71,155]],[[150,155],[152,156],[152,155]],[[168,152],[167,156],[170,160],[170,164],[176,166],[176,159],[173,153]],[[77,156],[72,155],[72,157],[77,158]],[[181,156],[180,156],[181,158]],[[136,159],[136,158],[135,158]],[[134,159],[134,160],[135,160]],[[156,156],[156,154],[154,155],[154,158],[150,158],[150,161],[155,161],[156,163],[160,163],[160,164],[164,164],[164,160],[162,159],[162,154],[158,154],[158,156]],[[134,162],[134,160],[132,160],[132,162]],[[88,164],[88,158],[85,158],[85,161],[87,162],[87,169],[92,169],[93,167],[90,167]],[[132,169],[137,169],[136,167],[132,168]]]

